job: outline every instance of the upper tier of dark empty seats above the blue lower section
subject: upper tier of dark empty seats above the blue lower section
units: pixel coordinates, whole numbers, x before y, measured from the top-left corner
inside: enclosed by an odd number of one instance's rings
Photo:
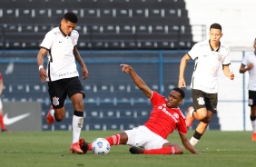
[[[184,0],[1,1],[3,49],[35,49],[67,11],[79,17],[80,49],[188,49]],[[28,7],[29,6],[29,7]]]

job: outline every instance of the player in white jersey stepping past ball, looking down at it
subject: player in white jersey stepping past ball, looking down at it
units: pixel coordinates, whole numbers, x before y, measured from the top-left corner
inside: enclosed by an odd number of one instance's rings
[[[64,119],[64,101],[68,96],[74,105],[73,142],[70,152],[83,153],[79,146],[79,137],[84,124],[84,90],[78,78],[75,61],[82,67],[83,80],[88,70],[81,58],[76,44],[79,34],[74,27],[78,21],[72,12],[64,14],[61,25],[44,36],[37,55],[37,64],[41,82],[48,82],[48,92],[52,106],[47,114],[47,123],[61,122]],[[48,53],[48,64],[44,70],[44,55]]]

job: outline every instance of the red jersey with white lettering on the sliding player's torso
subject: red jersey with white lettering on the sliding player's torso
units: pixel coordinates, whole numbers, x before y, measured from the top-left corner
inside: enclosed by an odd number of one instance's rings
[[[144,126],[153,133],[162,136],[163,139],[167,139],[168,135],[176,128],[179,133],[187,133],[185,116],[180,108],[167,107],[165,97],[154,91],[151,103],[153,104],[153,110],[149,120],[144,123]]]

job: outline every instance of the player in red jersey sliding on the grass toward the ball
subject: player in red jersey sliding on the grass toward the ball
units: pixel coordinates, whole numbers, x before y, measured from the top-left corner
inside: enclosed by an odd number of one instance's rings
[[[149,120],[143,125],[105,138],[110,145],[131,145],[130,152],[133,154],[182,154],[181,145],[167,141],[167,136],[177,129],[185,148],[197,154],[198,152],[187,139],[185,117],[178,107],[185,96],[182,89],[172,89],[166,99],[161,94],[152,91],[130,65],[121,65],[123,72],[129,73],[133,82],[151,100],[153,110]],[[92,151],[92,143],[88,144],[84,138],[80,139],[80,145],[84,153]]]

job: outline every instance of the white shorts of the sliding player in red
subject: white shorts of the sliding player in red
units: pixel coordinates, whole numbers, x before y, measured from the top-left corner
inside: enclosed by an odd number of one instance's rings
[[[143,147],[146,150],[159,149],[167,140],[160,135],[153,133],[145,126],[135,127],[132,130],[124,131],[128,135],[126,144],[136,147]]]

